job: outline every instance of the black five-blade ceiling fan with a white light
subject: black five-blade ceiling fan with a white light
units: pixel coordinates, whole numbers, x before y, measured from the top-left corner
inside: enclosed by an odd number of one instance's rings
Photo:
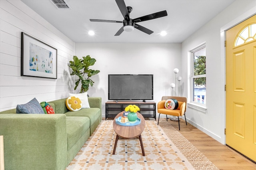
[[[115,34],[115,36],[120,35],[123,31],[133,31],[134,27],[144,33],[147,34],[152,34],[153,31],[151,31],[150,29],[147,29],[145,27],[142,27],[141,25],[138,25],[137,22],[142,22],[142,21],[148,21],[148,20],[153,20],[156,18],[160,18],[160,17],[164,17],[167,16],[167,12],[166,10],[164,11],[160,11],[160,12],[156,12],[154,14],[149,14],[146,16],[142,16],[139,18],[135,18],[132,19],[130,18],[130,12],[132,12],[132,7],[125,5],[124,0],[116,0],[116,4],[118,6],[118,8],[120,9],[122,16],[124,17],[123,21],[113,21],[113,20],[94,20],[94,19],[90,19],[90,21],[93,22],[113,22],[113,23],[123,23],[123,26],[117,31],[117,33]]]

